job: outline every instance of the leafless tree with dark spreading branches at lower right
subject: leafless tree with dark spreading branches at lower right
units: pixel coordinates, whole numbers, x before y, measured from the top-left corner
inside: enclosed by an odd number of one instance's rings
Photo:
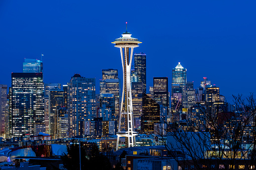
[[[156,132],[169,156],[186,169],[255,169],[256,102],[253,94],[233,96],[234,111],[225,102],[198,103],[188,119]],[[164,129],[163,129],[164,127]],[[164,133],[163,133],[164,132]]]

